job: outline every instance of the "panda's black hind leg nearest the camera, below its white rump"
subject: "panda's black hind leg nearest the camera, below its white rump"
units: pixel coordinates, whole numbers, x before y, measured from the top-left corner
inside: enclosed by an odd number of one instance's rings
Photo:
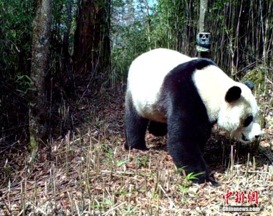
[[[133,106],[132,97],[129,93],[125,101],[125,148],[147,150],[145,145],[145,132],[149,120],[139,116]]]

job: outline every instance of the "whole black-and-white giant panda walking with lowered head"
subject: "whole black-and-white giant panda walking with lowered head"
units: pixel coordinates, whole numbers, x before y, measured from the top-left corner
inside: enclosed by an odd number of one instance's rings
[[[130,66],[125,98],[125,147],[146,150],[145,132],[168,133],[167,150],[177,167],[209,178],[202,149],[213,124],[247,143],[258,139],[253,83],[229,78],[211,60],[192,59],[168,49],[137,57]]]

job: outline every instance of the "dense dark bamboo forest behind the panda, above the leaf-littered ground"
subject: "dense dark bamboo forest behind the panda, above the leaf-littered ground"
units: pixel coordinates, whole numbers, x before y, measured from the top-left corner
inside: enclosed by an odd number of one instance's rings
[[[28,94],[35,90],[31,88],[30,69],[37,2],[0,1],[0,143],[28,137]],[[198,56],[195,46],[199,0],[92,2],[97,11],[107,10],[106,15],[98,13],[101,19],[95,20],[94,26],[96,22],[105,22],[110,34],[107,28],[99,28],[100,36],[93,41],[91,51],[83,51],[75,33],[80,1],[53,1],[46,88],[51,89],[47,95],[54,122],[51,124],[61,128],[54,131],[57,135],[71,127],[60,114],[68,99],[80,97],[86,86],[92,86],[93,91],[108,87],[124,90],[128,68],[141,53],[165,47]],[[211,59],[233,79],[252,79],[263,92],[266,83],[272,84],[272,4],[272,0],[208,0],[205,26],[212,35]],[[107,22],[110,15],[111,22]],[[111,48],[103,45],[105,37],[110,37]],[[93,57],[83,56],[94,49],[98,56],[105,56],[105,49],[111,50],[111,59],[95,62]],[[75,58],[80,54],[83,62]]]

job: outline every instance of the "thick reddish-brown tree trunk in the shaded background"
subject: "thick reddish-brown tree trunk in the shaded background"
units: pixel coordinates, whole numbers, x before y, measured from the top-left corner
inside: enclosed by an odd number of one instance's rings
[[[81,0],[74,36],[74,66],[84,77],[110,71],[111,0]]]

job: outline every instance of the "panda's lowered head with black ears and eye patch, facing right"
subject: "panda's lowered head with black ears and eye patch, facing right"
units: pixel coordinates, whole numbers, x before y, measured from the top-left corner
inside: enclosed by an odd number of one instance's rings
[[[217,123],[238,141],[248,143],[261,136],[257,102],[251,92],[251,82],[229,87],[220,105]]]

